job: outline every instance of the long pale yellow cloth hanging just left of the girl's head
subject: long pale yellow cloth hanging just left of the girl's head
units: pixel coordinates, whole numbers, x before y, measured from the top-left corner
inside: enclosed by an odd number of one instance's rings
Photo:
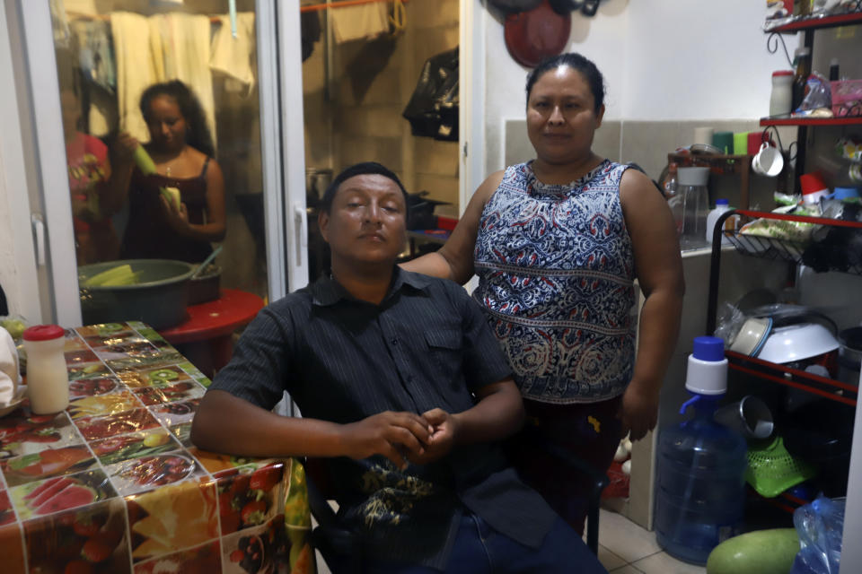
[[[164,79],[156,71],[150,48],[150,25],[145,16],[131,12],[110,13],[117,61],[117,107],[119,128],[141,142],[150,140],[150,132],[138,104],[141,93]]]

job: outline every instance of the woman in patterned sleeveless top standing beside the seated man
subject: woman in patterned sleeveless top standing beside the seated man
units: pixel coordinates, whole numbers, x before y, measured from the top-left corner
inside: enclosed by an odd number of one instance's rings
[[[591,149],[603,100],[602,74],[579,54],[535,68],[527,135],[536,159],[488,177],[444,247],[404,264],[458,283],[479,275],[473,298],[527,412],[513,462],[581,533],[587,483],[537,442],[606,472],[627,432],[637,440],[655,427],[684,291],[664,198],[647,176]],[[639,326],[636,279],[646,298]]]

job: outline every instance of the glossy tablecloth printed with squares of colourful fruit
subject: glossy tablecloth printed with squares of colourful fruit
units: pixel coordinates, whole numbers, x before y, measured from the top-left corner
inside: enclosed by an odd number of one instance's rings
[[[4,574],[314,571],[303,466],[189,442],[210,381],[142,323],[66,332],[65,413],[0,418]]]

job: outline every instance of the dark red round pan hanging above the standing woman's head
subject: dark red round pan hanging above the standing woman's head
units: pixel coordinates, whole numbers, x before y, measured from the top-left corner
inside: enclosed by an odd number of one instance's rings
[[[504,38],[509,54],[518,64],[535,67],[566,48],[571,30],[571,14],[556,13],[548,0],[542,0],[532,10],[508,14]]]

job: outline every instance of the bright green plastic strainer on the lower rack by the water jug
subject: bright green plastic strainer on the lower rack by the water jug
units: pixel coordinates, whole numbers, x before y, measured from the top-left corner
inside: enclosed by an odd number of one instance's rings
[[[761,496],[778,496],[817,474],[813,465],[787,452],[781,437],[762,444],[765,446],[748,448],[748,468],[745,470],[745,481]]]

